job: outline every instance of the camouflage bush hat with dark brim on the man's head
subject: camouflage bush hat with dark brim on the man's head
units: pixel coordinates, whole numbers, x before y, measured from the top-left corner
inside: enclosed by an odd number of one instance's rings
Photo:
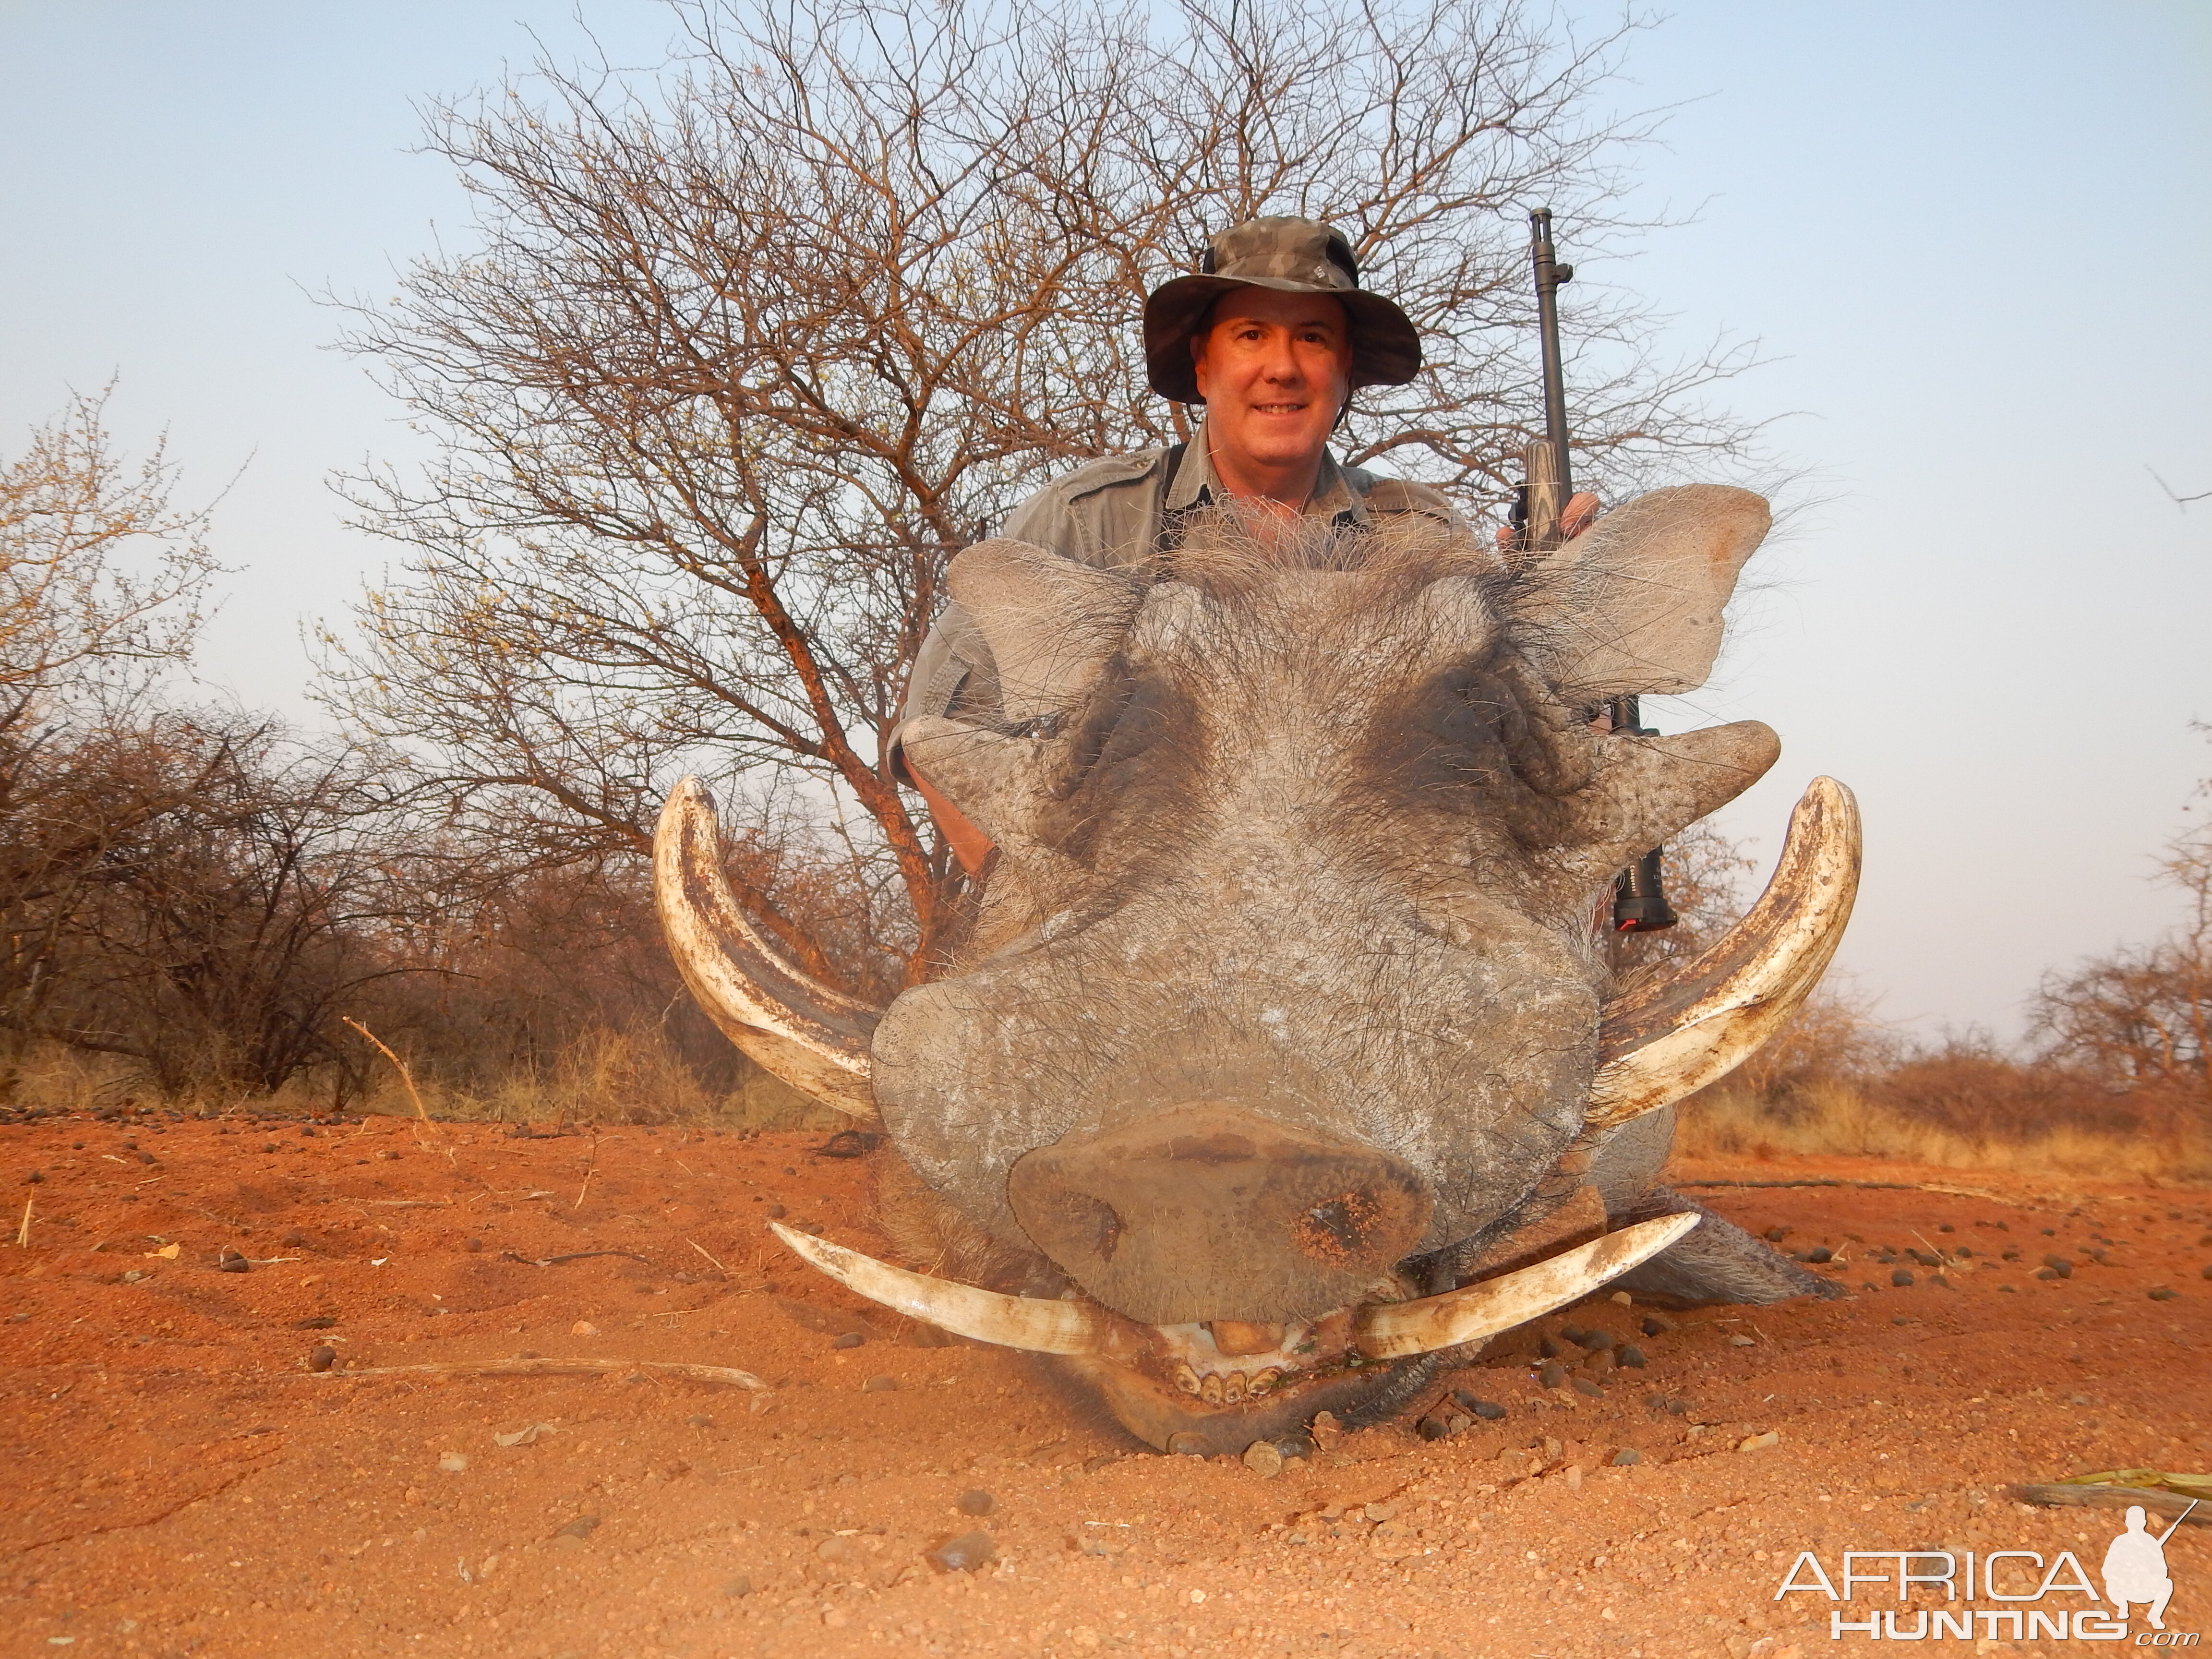
[[[1360,288],[1352,243],[1318,219],[1248,219],[1212,239],[1197,276],[1161,283],[1144,301],[1144,365],[1152,389],[1175,403],[1201,403],[1190,336],[1232,288],[1329,294],[1352,325],[1352,389],[1405,385],[1420,372],[1420,334],[1380,294]]]

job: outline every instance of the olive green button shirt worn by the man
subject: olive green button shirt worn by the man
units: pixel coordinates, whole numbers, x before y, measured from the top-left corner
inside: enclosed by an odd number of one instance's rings
[[[1203,422],[1192,434],[1181,465],[1170,478],[1168,460],[1172,453],[1172,449],[1137,449],[1128,456],[1084,462],[1022,502],[1006,518],[1000,535],[1104,571],[1148,568],[1159,546],[1164,513],[1206,507],[1228,493],[1214,473]],[[1321,451],[1321,473],[1305,511],[1347,529],[1371,524],[1378,513],[1427,513],[1444,524],[1462,526],[1460,515],[1440,491],[1398,478],[1378,478],[1360,467],[1343,467],[1327,449]],[[995,672],[975,672],[989,666],[991,646],[982,633],[958,604],[947,604],[914,659],[900,726],[918,714],[951,712],[962,686],[971,679],[995,686]],[[991,717],[987,708],[973,712],[982,719]],[[894,765],[896,748],[898,734],[894,732]]]

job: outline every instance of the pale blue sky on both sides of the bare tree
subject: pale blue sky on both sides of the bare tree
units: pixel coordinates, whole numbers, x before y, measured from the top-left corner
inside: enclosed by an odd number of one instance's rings
[[[655,62],[648,0],[582,0]],[[1595,15],[1595,9],[1593,9]],[[305,714],[307,619],[387,562],[323,480],[414,440],[325,349],[312,294],[383,296],[445,234],[416,100],[580,42],[568,0],[0,0],[0,451],[71,389],[168,427],[239,566],[206,677]],[[2022,1031],[2039,973],[2177,916],[2161,843],[2212,774],[2212,7],[1683,0],[1624,102],[1697,221],[1562,257],[1778,358],[1723,398],[1790,416],[1818,487],[1761,555],[1717,684],[1668,730],[1756,717],[1774,776],[1723,825],[1772,860],[1803,783],[1860,794],[1843,949],[1880,1015]],[[239,471],[243,467],[243,473]]]

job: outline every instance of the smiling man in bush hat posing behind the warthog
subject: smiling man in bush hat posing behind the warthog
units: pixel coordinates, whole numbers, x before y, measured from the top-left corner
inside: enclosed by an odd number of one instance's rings
[[[1420,334],[1402,310],[1360,288],[1343,232],[1314,219],[1250,219],[1214,237],[1201,270],[1144,303],[1152,392],[1203,405],[1188,445],[1093,460],[1031,495],[1000,529],[1015,542],[1102,568],[1148,566],[1203,507],[1325,518],[1338,526],[1422,513],[1460,524],[1427,484],[1378,478],[1329,453],[1352,394],[1420,372]],[[1564,520],[1595,511],[1577,495]],[[1575,524],[1579,526],[1579,524]],[[960,606],[938,617],[914,664],[902,719],[962,712],[989,675],[989,646]],[[975,710],[987,712],[987,710]],[[898,761],[973,874],[989,841]]]

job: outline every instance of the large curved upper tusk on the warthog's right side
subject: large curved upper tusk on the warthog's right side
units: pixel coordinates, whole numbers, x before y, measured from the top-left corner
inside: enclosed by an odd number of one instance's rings
[[[1814,779],[1765,894],[1721,940],[1606,1006],[1588,1128],[1672,1106],[1750,1060],[1803,1006],[1858,896],[1858,801]]]

